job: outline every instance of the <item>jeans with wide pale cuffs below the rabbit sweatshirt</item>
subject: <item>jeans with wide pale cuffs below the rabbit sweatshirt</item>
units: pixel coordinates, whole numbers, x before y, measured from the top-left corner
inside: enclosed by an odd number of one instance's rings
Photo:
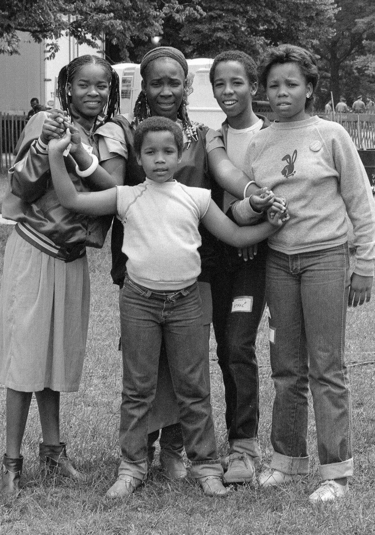
[[[351,394],[344,360],[347,244],[285,255],[269,250],[266,299],[276,397],[271,468],[308,473],[308,389],[322,478],[353,475]]]

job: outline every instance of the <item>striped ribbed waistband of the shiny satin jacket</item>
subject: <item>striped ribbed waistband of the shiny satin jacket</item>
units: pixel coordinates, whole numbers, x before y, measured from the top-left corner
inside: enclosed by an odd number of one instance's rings
[[[71,248],[59,247],[27,223],[17,223],[17,225],[15,225],[15,231],[21,238],[42,251],[42,253],[64,262],[73,262],[77,258],[82,258],[86,254],[86,248],[81,243]]]

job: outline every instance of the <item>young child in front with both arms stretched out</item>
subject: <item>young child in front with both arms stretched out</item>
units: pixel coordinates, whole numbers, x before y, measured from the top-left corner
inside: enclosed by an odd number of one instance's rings
[[[205,379],[204,326],[197,286],[200,221],[220,240],[246,247],[283,226],[280,214],[256,227],[238,227],[204,188],[173,179],[181,159],[181,128],[170,119],[151,117],[134,138],[137,161],[146,180],[96,193],[77,192],[62,152],[79,135],[72,127],[49,144],[53,185],[61,204],[80,213],[115,213],[124,226],[122,251],[128,257],[120,317],[123,391],[120,416],[122,462],[107,492],[127,496],[147,477],[147,428],[155,395],[161,338],[166,345],[184,445],[191,472],[207,495],[225,495],[217,458],[210,389]]]

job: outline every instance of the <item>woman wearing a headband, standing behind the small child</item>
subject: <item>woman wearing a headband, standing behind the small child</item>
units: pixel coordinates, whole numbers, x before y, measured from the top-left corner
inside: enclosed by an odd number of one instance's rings
[[[259,192],[256,185],[249,185],[246,175],[230,162],[225,154],[220,134],[207,128],[195,127],[190,123],[186,112],[189,94],[188,68],[182,52],[172,47],[158,47],[144,56],[140,64],[142,76],[142,92],[139,94],[134,114],[119,115],[100,127],[95,133],[98,139],[100,165],[113,177],[114,184],[134,186],[144,182],[145,174],[137,164],[134,150],[135,128],[146,117],[161,116],[176,121],[184,135],[184,146],[181,163],[178,165],[175,179],[186,186],[208,188],[212,190],[212,198],[221,203],[223,189],[238,198],[245,193],[251,195]],[[214,178],[214,180],[212,179]],[[265,192],[265,189],[264,189]],[[254,196],[253,196],[254,197]],[[271,203],[272,195],[263,202]],[[203,305],[204,325],[206,332],[206,372],[209,384],[209,328],[212,316],[212,304],[209,282],[221,260],[219,242],[205,228],[200,226],[202,246],[200,256],[202,272],[199,277],[199,289]],[[126,273],[126,256],[121,252],[123,242],[123,226],[114,219],[112,228],[112,278],[122,288]],[[121,293],[120,293],[121,299]],[[126,339],[122,340],[126,344]],[[183,463],[183,438],[179,426],[179,414],[168,366],[160,359],[159,383],[153,410],[149,421],[149,452],[148,461],[152,462],[153,443],[160,437],[160,461],[163,471],[169,478],[186,476]],[[125,403],[123,396],[123,403]],[[118,480],[107,492],[108,496],[124,496],[134,491],[131,483],[129,462],[137,460],[126,458],[123,444],[126,436],[123,418],[120,417],[120,446],[123,461],[119,469]]]

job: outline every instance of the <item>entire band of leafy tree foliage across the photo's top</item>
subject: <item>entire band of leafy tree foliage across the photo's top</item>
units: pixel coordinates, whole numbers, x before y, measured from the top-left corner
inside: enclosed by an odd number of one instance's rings
[[[18,30],[50,57],[61,34],[91,45],[105,35],[115,62],[139,62],[157,35],[190,58],[239,49],[257,59],[269,45],[299,44],[318,58],[321,104],[330,90],[335,102],[375,94],[375,0],[3,0],[0,53],[17,53]]]

